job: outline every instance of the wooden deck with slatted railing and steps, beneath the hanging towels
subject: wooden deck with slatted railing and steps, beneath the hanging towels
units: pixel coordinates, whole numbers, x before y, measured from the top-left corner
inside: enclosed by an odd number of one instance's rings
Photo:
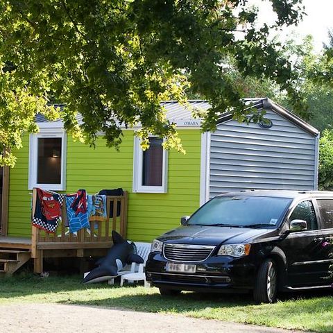
[[[37,190],[33,189],[33,214],[36,196]],[[89,228],[83,228],[74,233],[69,232],[66,208],[63,205],[61,223],[55,233],[48,234],[33,225],[31,238],[0,237],[0,252],[4,253],[2,259],[0,256],[0,262],[1,260],[8,261],[10,254],[15,251],[18,253],[17,256],[22,257],[17,259],[20,266],[24,260],[32,258],[35,273],[42,273],[44,258],[102,257],[112,246],[112,230],[116,230],[126,238],[127,200],[126,191],[123,192],[123,196],[107,196],[106,219],[97,221],[91,218],[89,219]],[[11,269],[10,273],[13,272],[14,268]]]

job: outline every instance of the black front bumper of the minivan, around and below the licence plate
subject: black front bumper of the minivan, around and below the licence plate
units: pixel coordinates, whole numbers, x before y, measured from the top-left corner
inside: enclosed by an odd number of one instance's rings
[[[248,258],[208,257],[196,265],[195,273],[166,271],[167,259],[162,253],[151,253],[146,263],[146,280],[155,287],[189,291],[234,292],[253,289],[256,266]]]

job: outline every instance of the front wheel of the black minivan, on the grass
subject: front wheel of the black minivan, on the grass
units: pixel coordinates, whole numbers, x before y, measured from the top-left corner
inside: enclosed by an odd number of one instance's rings
[[[253,298],[258,303],[273,303],[278,293],[278,267],[272,259],[266,259],[259,267]]]

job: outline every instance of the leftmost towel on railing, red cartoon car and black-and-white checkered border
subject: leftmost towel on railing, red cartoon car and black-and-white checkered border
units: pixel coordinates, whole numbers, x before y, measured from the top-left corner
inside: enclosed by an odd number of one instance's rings
[[[63,194],[37,189],[33,225],[49,233],[56,232],[61,221],[61,207],[63,203]]]

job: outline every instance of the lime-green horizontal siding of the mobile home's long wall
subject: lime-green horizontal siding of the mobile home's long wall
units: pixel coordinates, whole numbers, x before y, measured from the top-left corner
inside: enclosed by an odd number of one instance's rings
[[[99,139],[90,148],[67,139],[66,192],[86,189],[94,194],[100,189],[122,187],[128,196],[128,239],[151,241],[162,232],[179,225],[180,216],[194,212],[200,192],[200,132],[179,130],[187,154],[169,152],[167,194],[132,193],[134,132],[124,131],[120,151],[107,148]],[[10,236],[30,236],[31,196],[28,191],[28,137],[17,153],[17,165],[10,172]]]

